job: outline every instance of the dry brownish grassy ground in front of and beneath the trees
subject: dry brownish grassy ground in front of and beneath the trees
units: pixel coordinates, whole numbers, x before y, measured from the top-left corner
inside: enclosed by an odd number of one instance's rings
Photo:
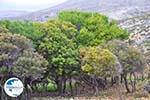
[[[121,85],[121,95],[122,100],[150,100],[150,94],[146,92],[143,87],[146,82],[150,79],[140,80],[136,84],[136,92],[131,92],[129,94],[126,93],[125,86]],[[68,97],[68,98],[61,98],[61,97],[45,97],[45,98],[32,98],[31,100],[119,100],[119,92],[117,89],[117,85],[113,87],[101,91],[97,96],[90,95],[90,91],[93,93],[92,90],[88,89],[85,92],[82,92],[77,97]],[[131,86],[130,86],[131,89]]]

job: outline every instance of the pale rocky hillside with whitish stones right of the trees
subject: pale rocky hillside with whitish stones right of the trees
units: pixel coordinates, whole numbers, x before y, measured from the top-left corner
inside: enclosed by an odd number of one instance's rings
[[[150,15],[121,20],[119,25],[131,32],[128,42],[146,55],[150,66]]]

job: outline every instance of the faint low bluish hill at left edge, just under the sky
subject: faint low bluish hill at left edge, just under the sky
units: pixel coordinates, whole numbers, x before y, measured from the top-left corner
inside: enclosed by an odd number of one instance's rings
[[[16,11],[16,10],[0,10],[0,19],[2,18],[10,18],[10,17],[18,17],[29,14],[27,11]]]

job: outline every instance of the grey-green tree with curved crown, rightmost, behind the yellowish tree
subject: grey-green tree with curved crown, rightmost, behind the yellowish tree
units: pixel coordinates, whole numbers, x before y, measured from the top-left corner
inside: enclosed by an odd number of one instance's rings
[[[145,57],[136,48],[119,40],[109,41],[103,44],[103,47],[105,49],[109,49],[118,57],[118,60],[123,68],[123,73],[121,76],[124,79],[127,92],[130,92],[127,75],[133,74],[135,78],[135,72],[142,73],[146,67]]]

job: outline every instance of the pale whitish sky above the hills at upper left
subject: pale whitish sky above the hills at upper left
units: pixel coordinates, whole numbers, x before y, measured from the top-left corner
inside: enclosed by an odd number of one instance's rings
[[[0,0],[0,10],[37,11],[65,1],[67,0]]]

